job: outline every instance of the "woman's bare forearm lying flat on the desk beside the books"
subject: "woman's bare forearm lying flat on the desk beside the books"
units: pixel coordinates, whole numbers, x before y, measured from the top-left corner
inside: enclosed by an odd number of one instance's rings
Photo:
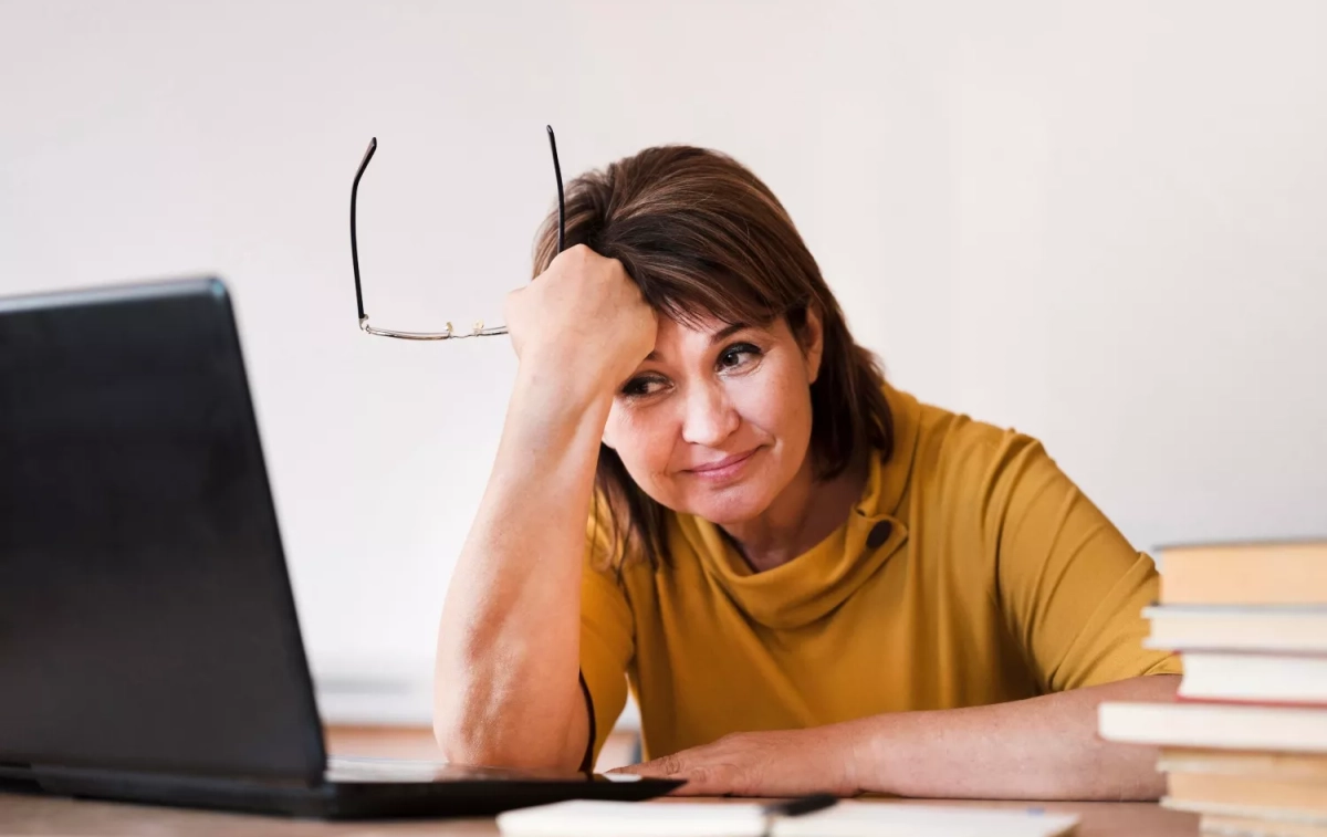
[[[1153,800],[1156,749],[1103,741],[1103,700],[1169,700],[1176,675],[1133,678],[1013,703],[865,718],[839,734],[855,784],[920,797]]]

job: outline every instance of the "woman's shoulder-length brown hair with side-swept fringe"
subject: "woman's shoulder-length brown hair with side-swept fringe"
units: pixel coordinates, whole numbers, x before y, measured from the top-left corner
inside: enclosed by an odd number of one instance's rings
[[[660,314],[694,325],[770,325],[787,318],[802,340],[820,314],[824,354],[811,385],[811,455],[817,479],[843,472],[861,446],[889,456],[893,420],[873,354],[848,333],[811,251],[774,194],[733,158],[690,146],[646,149],[567,187],[565,244],[617,259]],[[557,212],[535,239],[535,276],[557,255]],[[667,554],[665,508],[600,446],[594,503],[606,503],[614,548],[628,544],[658,566]],[[596,508],[597,511],[597,508]],[[618,564],[620,566],[620,564]]]

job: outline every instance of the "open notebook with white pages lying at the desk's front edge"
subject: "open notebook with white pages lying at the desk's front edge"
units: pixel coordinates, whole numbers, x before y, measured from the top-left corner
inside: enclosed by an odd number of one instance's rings
[[[845,801],[774,821],[774,837],[1055,837],[1078,817],[1039,809],[941,808]],[[760,805],[569,801],[498,816],[508,837],[760,837]]]

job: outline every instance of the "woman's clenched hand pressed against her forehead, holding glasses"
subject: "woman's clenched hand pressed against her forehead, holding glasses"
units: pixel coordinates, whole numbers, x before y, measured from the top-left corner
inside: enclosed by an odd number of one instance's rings
[[[522,366],[613,391],[654,350],[658,320],[617,259],[577,244],[507,294],[507,330]]]

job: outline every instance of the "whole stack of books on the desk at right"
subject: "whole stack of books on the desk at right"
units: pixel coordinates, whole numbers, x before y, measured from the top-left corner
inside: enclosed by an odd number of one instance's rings
[[[1327,541],[1164,549],[1149,647],[1174,703],[1104,703],[1101,738],[1161,747],[1204,833],[1327,837]]]

